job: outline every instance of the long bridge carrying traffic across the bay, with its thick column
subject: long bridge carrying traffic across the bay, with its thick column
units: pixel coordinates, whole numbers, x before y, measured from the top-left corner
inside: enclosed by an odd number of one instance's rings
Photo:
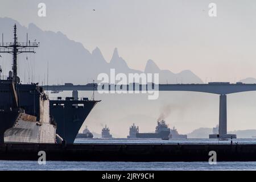
[[[97,85],[97,84],[86,84],[86,85],[48,85],[43,86],[45,90],[159,90],[159,91],[186,91],[186,92],[204,92],[220,95],[220,108],[219,108],[219,130],[218,135],[209,135],[210,138],[236,138],[236,135],[227,134],[227,109],[226,109],[226,95],[238,92],[255,91],[256,84],[243,84],[237,82],[236,84],[230,84],[229,82],[209,82],[208,84],[159,84],[151,86],[129,84],[129,85]],[[108,88],[104,88],[108,87]]]

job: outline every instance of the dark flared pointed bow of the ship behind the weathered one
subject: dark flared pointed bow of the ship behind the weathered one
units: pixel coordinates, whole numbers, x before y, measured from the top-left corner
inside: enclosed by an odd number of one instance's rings
[[[57,124],[57,134],[73,143],[82,123],[98,101],[50,100],[50,115]]]

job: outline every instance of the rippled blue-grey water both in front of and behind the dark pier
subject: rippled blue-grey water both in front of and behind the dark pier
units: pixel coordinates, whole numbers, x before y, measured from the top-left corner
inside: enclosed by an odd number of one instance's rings
[[[233,143],[255,144],[256,139],[236,139]],[[81,139],[76,143],[230,143],[214,139],[188,140],[127,140]],[[256,170],[256,162],[55,162],[39,165],[36,161],[0,160],[0,170]]]

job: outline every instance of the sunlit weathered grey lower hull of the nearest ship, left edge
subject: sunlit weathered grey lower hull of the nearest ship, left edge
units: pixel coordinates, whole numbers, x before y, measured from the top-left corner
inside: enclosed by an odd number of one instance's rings
[[[55,143],[55,126],[37,122],[33,115],[0,111],[0,118],[2,143]]]

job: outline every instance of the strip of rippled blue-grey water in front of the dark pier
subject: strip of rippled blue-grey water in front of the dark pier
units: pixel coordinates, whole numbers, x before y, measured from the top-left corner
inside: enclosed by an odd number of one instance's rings
[[[0,170],[256,170],[256,162],[46,162],[0,160]]]

